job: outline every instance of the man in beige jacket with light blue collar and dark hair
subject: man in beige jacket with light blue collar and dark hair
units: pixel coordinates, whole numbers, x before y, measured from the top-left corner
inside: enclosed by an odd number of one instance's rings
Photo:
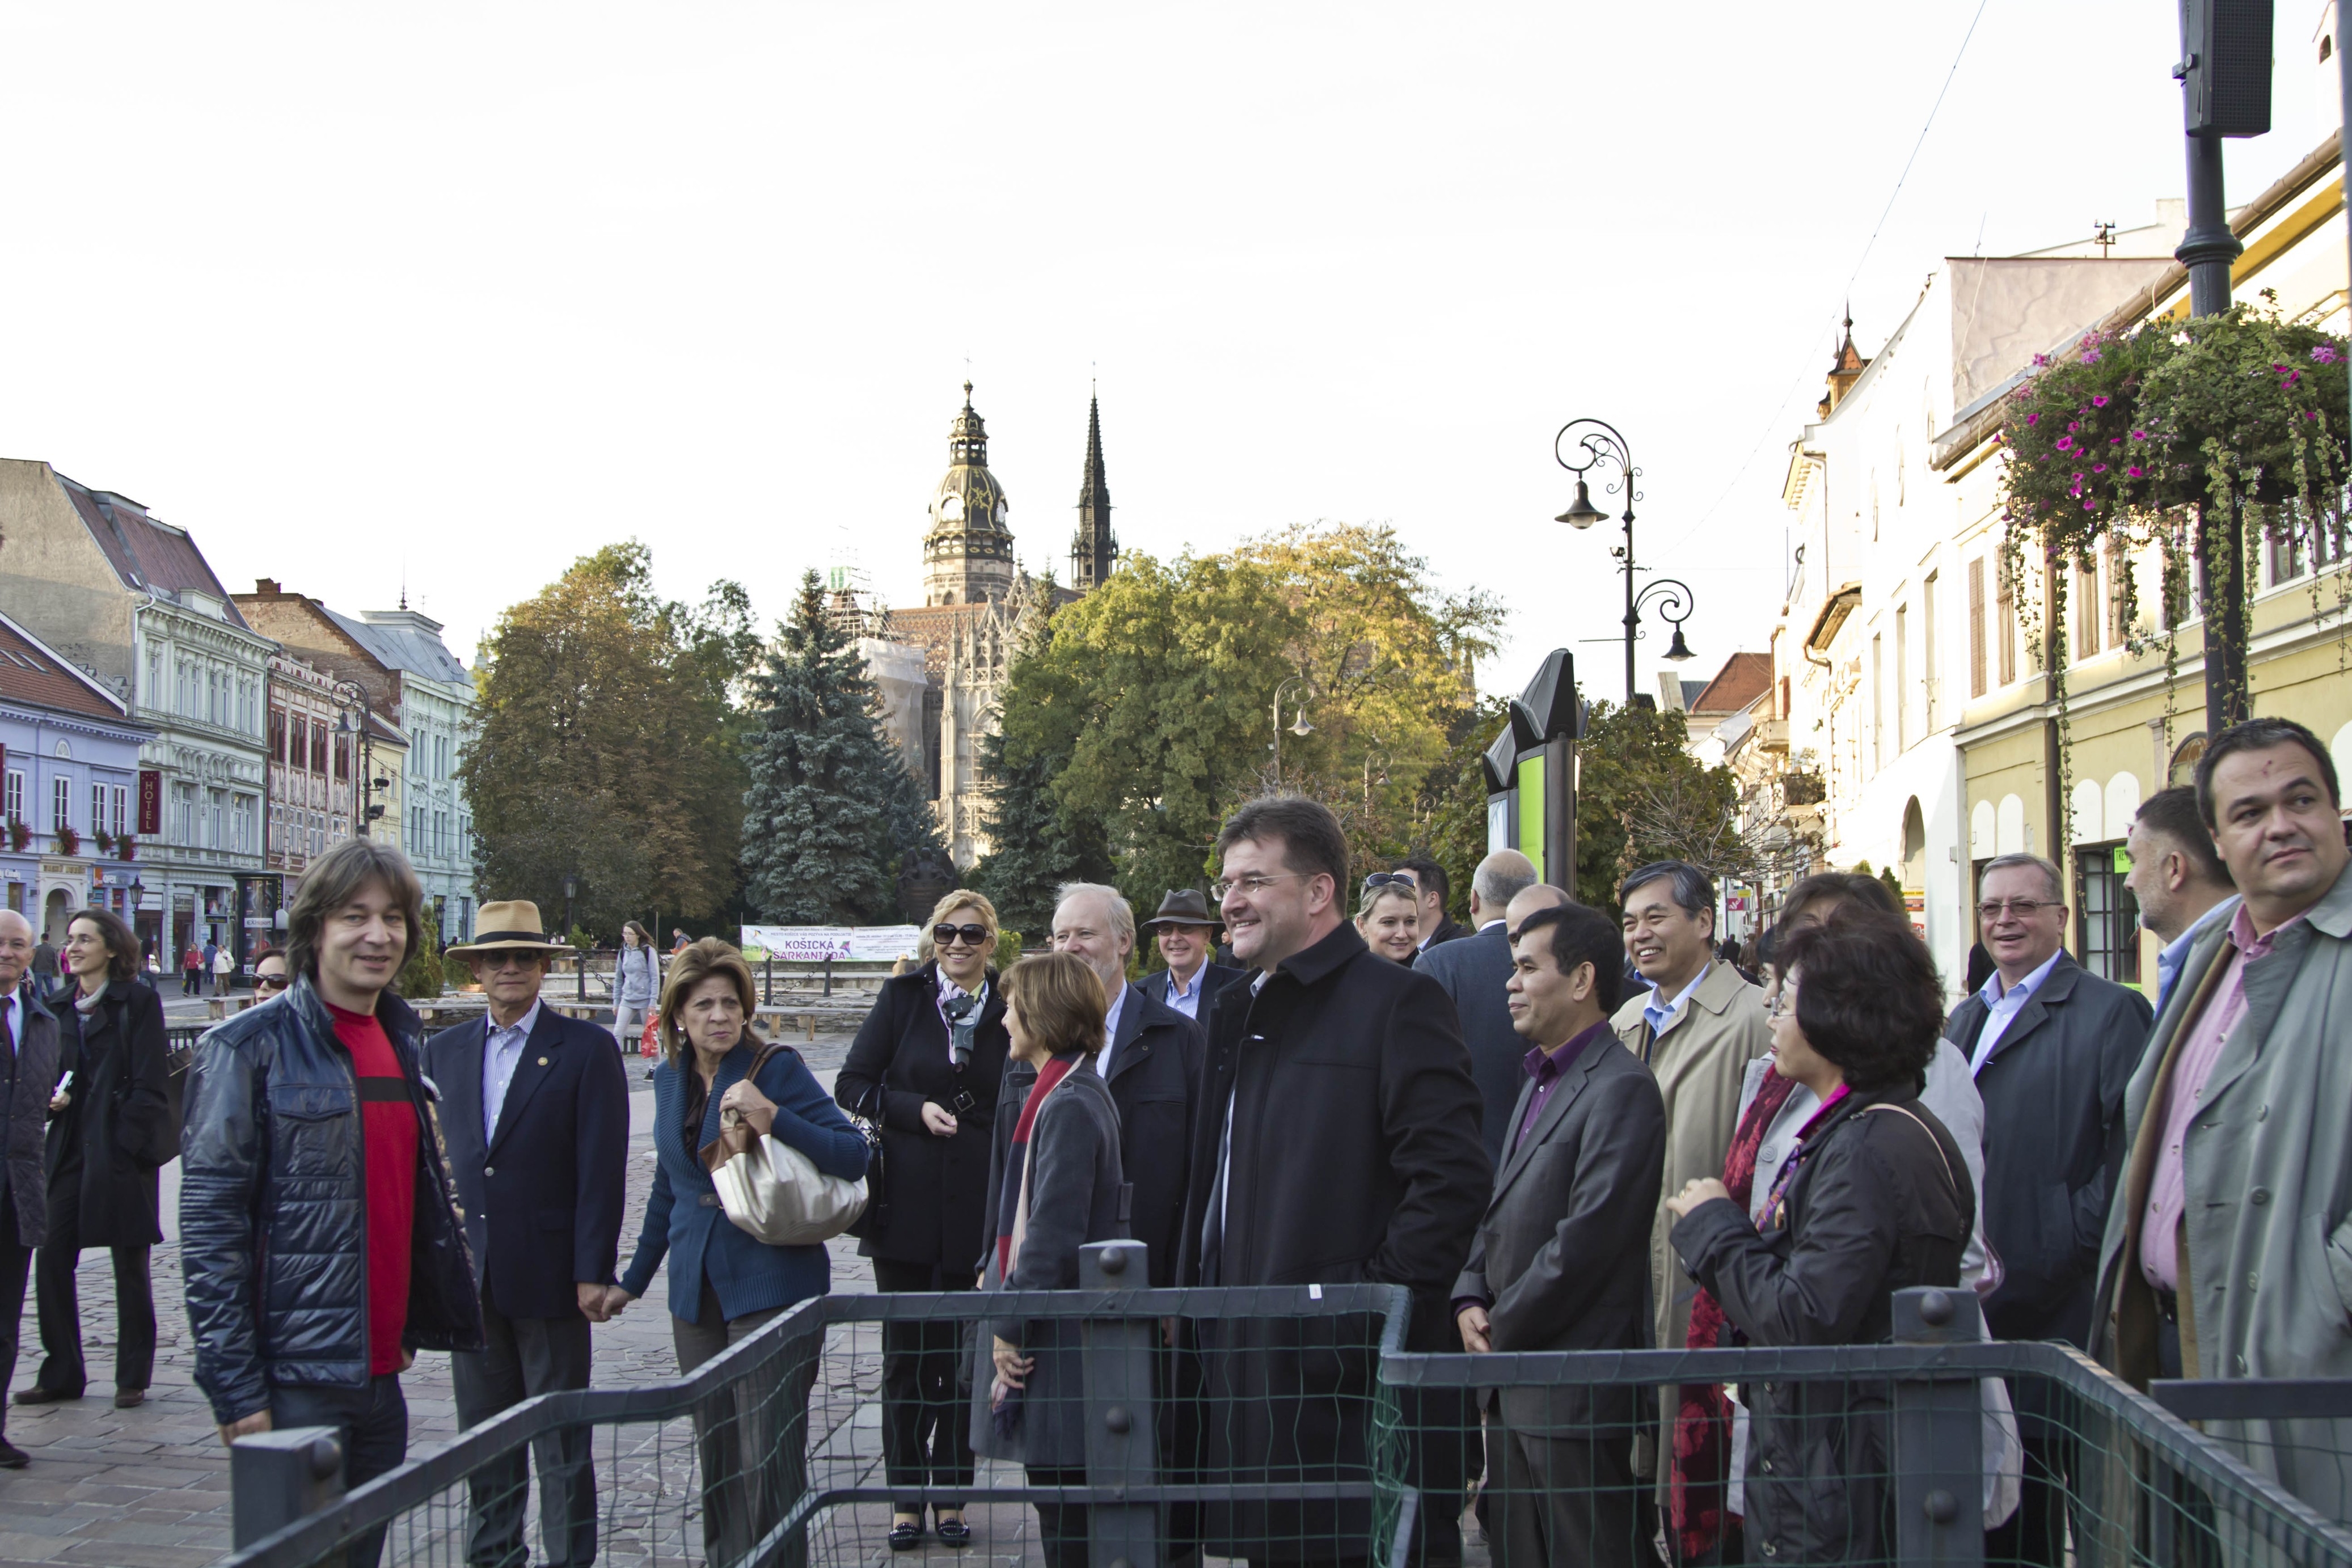
[[[1691,1276],[1668,1244],[1665,1199],[1698,1175],[1722,1178],[1738,1131],[1748,1063],[1771,1048],[1764,992],[1715,961],[1715,882],[1686,860],[1644,865],[1618,889],[1625,957],[1649,983],[1609,1020],[1649,1063],[1665,1098],[1665,1182],[1649,1232],[1651,1326],[1658,1349],[1682,1349],[1691,1331]],[[1661,1418],[1672,1418],[1672,1389]],[[1635,1474],[1658,1474],[1656,1441],[1635,1446]]]

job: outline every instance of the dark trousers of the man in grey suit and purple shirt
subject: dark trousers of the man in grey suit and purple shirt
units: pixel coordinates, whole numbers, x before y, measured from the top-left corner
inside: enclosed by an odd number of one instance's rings
[[[1494,1490],[1496,1568],[1651,1568],[1656,1552],[1642,1530],[1646,1481],[1632,1474],[1632,1439],[1618,1429],[1602,1439],[1541,1436],[1494,1427],[1489,1465],[1501,1455]]]

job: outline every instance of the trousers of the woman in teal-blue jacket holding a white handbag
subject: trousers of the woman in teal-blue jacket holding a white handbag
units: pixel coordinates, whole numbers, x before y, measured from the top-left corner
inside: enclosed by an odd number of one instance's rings
[[[720,1293],[703,1279],[701,1319],[670,1319],[677,1371],[691,1373],[729,1345],[748,1340],[783,1316],[783,1307],[720,1314]],[[703,1467],[703,1556],[739,1563],[776,1528],[783,1512],[807,1490],[809,1387],[814,1356],[790,1366],[767,1387],[736,1382],[694,1408],[694,1443]],[[788,1549],[781,1563],[804,1561],[807,1547]]]

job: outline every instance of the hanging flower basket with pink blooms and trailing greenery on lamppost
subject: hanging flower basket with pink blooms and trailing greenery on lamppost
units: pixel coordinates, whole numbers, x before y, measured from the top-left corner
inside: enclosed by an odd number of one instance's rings
[[[2345,339],[2281,322],[2265,306],[2232,306],[2194,320],[2159,317],[2126,334],[2086,334],[2063,357],[2034,355],[2034,374],[2009,397],[1994,437],[2002,473],[2002,581],[2018,607],[2032,658],[2049,677],[2063,741],[2067,726],[2067,592],[2100,550],[2122,559],[2154,545],[2161,604],[2143,625],[2129,571],[2114,590],[2126,646],[2161,646],[2166,743],[2190,618],[2197,545],[2218,557],[2239,529],[2246,552],[2241,625],[2251,625],[2263,541],[2328,559],[2345,529],[2347,447]],[[2039,562],[2049,623],[2025,592]],[[2312,614],[2321,611],[2312,574]],[[2352,574],[2336,576],[2336,614],[2352,609]],[[2209,607],[2213,609],[2213,607]],[[2070,745],[2060,766],[2072,773]],[[2072,788],[2060,778],[2060,799]],[[2065,823],[2053,825],[2063,846]]]

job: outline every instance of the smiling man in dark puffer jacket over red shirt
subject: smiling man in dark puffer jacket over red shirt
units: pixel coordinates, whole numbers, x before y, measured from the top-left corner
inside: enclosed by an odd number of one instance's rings
[[[205,1034],[181,1131],[188,1328],[221,1441],[334,1427],[346,1486],[407,1458],[414,1352],[482,1349],[416,1013],[390,994],[421,903],[397,849],[327,851],[289,912],[294,990]],[[355,1540],[350,1568],[381,1544]]]

